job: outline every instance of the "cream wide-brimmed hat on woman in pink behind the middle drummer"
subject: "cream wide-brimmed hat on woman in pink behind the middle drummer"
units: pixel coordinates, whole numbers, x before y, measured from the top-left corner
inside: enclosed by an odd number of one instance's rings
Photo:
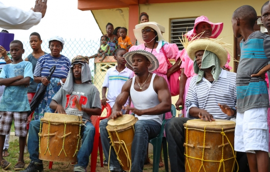
[[[158,24],[156,22],[144,22],[144,23],[141,23],[141,24],[136,25],[135,26],[135,29],[133,29],[135,38],[141,44],[144,44],[145,43],[143,41],[143,39],[142,39],[142,33],[141,33],[141,29],[144,29],[145,27],[150,27],[150,28],[156,30],[157,33],[158,33],[159,41],[161,41],[161,40],[162,41],[165,41],[165,39],[162,36],[162,33],[165,32],[165,28],[163,26],[161,26],[160,24]]]

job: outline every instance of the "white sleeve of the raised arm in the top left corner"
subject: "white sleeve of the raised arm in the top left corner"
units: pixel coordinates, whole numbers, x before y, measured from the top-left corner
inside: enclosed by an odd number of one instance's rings
[[[30,29],[37,25],[42,14],[33,10],[24,11],[13,6],[5,6],[0,2],[0,28],[3,29]]]

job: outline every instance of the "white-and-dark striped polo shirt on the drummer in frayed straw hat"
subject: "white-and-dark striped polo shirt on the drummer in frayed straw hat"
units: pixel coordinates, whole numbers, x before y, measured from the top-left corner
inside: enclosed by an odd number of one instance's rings
[[[236,73],[221,69],[219,79],[212,84],[204,77],[196,84],[197,78],[197,75],[194,76],[189,84],[185,102],[187,117],[191,117],[189,109],[197,107],[206,110],[215,119],[230,119],[231,117],[224,114],[217,104],[226,104],[229,107],[236,106]]]

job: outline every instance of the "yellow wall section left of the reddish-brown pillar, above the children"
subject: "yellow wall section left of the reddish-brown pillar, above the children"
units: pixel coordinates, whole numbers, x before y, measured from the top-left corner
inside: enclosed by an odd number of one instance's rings
[[[129,8],[114,8],[114,9],[101,9],[92,10],[99,28],[103,34],[106,34],[106,25],[111,23],[114,28],[116,27],[129,27]]]

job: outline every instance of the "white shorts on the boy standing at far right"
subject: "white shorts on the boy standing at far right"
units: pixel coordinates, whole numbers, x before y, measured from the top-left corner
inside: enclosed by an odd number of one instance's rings
[[[269,150],[268,108],[252,108],[237,113],[234,149],[240,152],[255,153],[254,150]]]

